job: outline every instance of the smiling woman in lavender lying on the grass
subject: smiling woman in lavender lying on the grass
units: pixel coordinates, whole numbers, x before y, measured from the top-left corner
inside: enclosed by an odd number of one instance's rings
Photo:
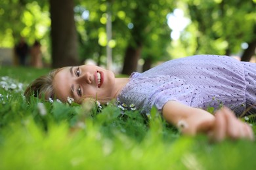
[[[156,106],[167,122],[187,135],[207,133],[215,141],[251,139],[251,127],[237,116],[255,112],[256,63],[240,62],[227,56],[190,56],[173,59],[130,78],[93,65],[64,67],[37,78],[25,95],[45,96],[82,103],[86,98],[106,103],[135,105],[142,113]],[[219,109],[215,116],[207,107]],[[248,110],[246,111],[245,110]]]

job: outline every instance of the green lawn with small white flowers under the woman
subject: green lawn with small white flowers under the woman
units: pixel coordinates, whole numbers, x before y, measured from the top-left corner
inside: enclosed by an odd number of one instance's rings
[[[211,143],[204,135],[182,136],[152,109],[112,103],[46,102],[22,95],[49,69],[0,67],[0,169],[254,169],[255,142]],[[5,88],[3,88],[5,86]],[[255,121],[247,120],[254,131]]]

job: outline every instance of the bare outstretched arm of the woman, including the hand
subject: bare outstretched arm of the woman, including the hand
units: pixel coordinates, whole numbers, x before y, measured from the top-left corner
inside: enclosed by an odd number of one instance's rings
[[[214,141],[221,141],[226,137],[253,140],[251,127],[238,120],[227,108],[218,110],[213,116],[205,110],[189,107],[178,101],[168,101],[163,106],[163,118],[176,127],[182,126],[182,133],[186,135],[206,133]]]

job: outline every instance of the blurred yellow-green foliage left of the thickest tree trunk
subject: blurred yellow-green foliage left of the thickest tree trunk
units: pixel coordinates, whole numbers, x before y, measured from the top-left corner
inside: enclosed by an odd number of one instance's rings
[[[20,36],[26,37],[29,44],[42,40],[41,44],[48,47],[51,20],[45,2],[4,0],[0,6],[1,47],[14,46]]]

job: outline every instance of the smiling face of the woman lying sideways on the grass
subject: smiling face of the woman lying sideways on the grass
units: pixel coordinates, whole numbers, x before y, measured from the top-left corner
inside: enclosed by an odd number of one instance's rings
[[[112,71],[95,65],[64,67],[53,78],[56,98],[67,101],[72,97],[80,103],[82,96],[110,99],[114,93],[115,76]]]

